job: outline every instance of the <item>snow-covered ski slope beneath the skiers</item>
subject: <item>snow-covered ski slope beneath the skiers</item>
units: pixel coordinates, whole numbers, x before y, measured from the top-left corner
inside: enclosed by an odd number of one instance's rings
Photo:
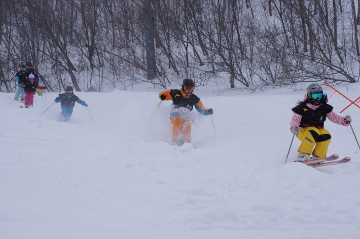
[[[337,89],[360,96],[360,84]],[[0,238],[360,239],[351,128],[325,122],[328,155],[350,163],[285,164],[291,108],[304,91],[195,89],[214,109],[216,137],[211,116],[195,111],[192,143],[182,147],[171,145],[171,102],[159,104],[160,91],[75,92],[89,112],[76,104],[68,123],[56,121],[60,103],[39,117],[56,93],[29,109],[0,93]],[[329,103],[337,113],[349,104],[338,93]],[[346,114],[360,138],[360,108]]]

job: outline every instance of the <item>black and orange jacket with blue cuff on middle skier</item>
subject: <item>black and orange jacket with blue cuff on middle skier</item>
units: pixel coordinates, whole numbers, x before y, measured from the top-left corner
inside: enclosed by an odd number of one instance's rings
[[[208,109],[204,107],[200,98],[194,95],[192,91],[190,95],[186,95],[182,88],[180,90],[167,90],[159,93],[159,98],[162,94],[166,95],[165,101],[173,101],[173,109],[187,109],[191,111],[194,107],[202,115],[210,115]],[[161,98],[160,98],[161,99]],[[173,110],[170,117],[179,116],[179,110]]]

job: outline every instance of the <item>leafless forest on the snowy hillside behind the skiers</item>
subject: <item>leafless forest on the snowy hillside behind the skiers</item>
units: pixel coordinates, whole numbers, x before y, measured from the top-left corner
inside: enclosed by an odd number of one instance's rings
[[[1,0],[0,91],[358,82],[360,0]]]

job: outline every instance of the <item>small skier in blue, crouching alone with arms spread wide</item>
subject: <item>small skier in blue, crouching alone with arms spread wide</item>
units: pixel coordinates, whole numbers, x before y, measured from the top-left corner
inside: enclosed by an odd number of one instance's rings
[[[81,101],[77,96],[74,95],[72,86],[67,86],[65,88],[65,93],[59,94],[59,97],[56,97],[54,102],[61,102],[61,113],[59,115],[59,121],[62,122],[67,122],[70,119],[75,102],[78,102],[79,104],[87,107],[87,103]]]

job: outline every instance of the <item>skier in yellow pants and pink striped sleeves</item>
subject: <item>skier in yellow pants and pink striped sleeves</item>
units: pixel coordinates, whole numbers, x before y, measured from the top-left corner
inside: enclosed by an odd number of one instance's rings
[[[306,89],[305,100],[298,102],[291,109],[294,114],[290,122],[290,131],[301,141],[297,150],[299,152],[297,161],[326,157],[331,138],[330,133],[324,129],[326,118],[343,126],[351,123],[349,115],[341,117],[332,109],[333,107],[327,104],[327,96],[319,84],[309,85]]]

